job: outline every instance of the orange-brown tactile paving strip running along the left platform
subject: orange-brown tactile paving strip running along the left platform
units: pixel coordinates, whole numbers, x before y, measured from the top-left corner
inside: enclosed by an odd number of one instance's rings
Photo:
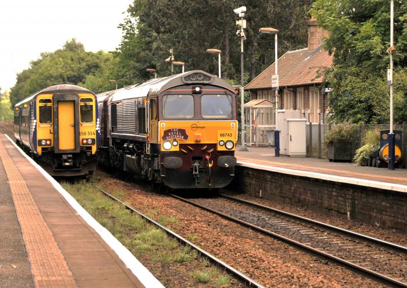
[[[9,180],[34,284],[39,288],[77,287],[64,255],[2,141],[0,157]]]

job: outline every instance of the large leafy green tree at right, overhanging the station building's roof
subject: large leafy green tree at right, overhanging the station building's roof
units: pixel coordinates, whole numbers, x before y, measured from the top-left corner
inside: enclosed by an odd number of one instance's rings
[[[407,6],[395,1],[394,109],[395,121],[405,121],[407,109]],[[390,56],[390,2],[387,0],[317,0],[311,14],[329,31],[324,46],[333,55],[325,81],[332,121],[389,122],[387,69]]]

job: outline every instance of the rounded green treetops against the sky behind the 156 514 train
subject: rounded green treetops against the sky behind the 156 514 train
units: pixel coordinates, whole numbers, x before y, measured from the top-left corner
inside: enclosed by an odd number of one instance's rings
[[[52,84],[78,84],[86,76],[95,74],[111,58],[103,51],[85,51],[83,44],[75,39],[67,41],[62,49],[43,52],[39,59],[30,63],[30,68],[17,74],[17,82],[10,91],[12,105]]]

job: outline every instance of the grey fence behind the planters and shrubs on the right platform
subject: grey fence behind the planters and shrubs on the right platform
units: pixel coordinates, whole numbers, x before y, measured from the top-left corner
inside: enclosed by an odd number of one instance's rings
[[[306,141],[307,141],[307,157],[326,158],[328,148],[325,145],[324,136],[333,127],[331,124],[322,123],[307,123],[306,126]],[[359,124],[357,133],[352,141],[353,154],[355,151],[364,145],[363,139],[366,133],[370,130],[388,130],[388,124]],[[400,130],[403,133],[403,161],[404,166],[407,164],[407,123],[395,124],[394,130]]]

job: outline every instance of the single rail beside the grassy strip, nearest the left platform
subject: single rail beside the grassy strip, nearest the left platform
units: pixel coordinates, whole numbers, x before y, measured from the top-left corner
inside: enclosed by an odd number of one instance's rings
[[[183,238],[182,236],[178,235],[177,233],[169,230],[168,228],[162,226],[160,223],[158,223],[157,221],[154,221],[153,219],[151,219],[150,217],[142,214],[141,212],[137,211],[136,209],[134,209],[133,207],[131,207],[130,205],[124,203],[123,201],[121,201],[118,198],[115,198],[113,195],[107,193],[105,190],[101,189],[100,187],[94,185],[94,187],[96,189],[98,189],[101,193],[103,193],[105,196],[107,196],[108,198],[110,198],[111,200],[115,201],[115,202],[119,202],[122,205],[124,205],[127,209],[129,209],[131,212],[133,213],[137,213],[138,215],[140,215],[143,219],[146,219],[148,222],[152,223],[153,225],[157,226],[158,228],[164,230],[169,236],[176,238],[180,243],[182,243],[183,245],[188,245],[190,246],[192,249],[196,250],[199,254],[201,254],[203,257],[208,258],[212,263],[214,263],[215,265],[217,265],[218,267],[224,269],[225,271],[227,271],[228,273],[230,273],[232,276],[234,276],[236,279],[238,279],[238,281],[240,281],[240,285],[239,286],[247,286],[247,287],[259,287],[259,288],[265,288],[265,286],[257,283],[256,281],[254,281],[253,279],[251,279],[250,277],[246,276],[245,274],[239,272],[238,270],[236,270],[235,268],[227,265],[226,263],[224,263],[223,261],[217,259],[214,255],[210,254],[209,252],[199,248],[198,246],[196,246],[195,244],[193,244],[192,242],[188,241],[187,239]]]

